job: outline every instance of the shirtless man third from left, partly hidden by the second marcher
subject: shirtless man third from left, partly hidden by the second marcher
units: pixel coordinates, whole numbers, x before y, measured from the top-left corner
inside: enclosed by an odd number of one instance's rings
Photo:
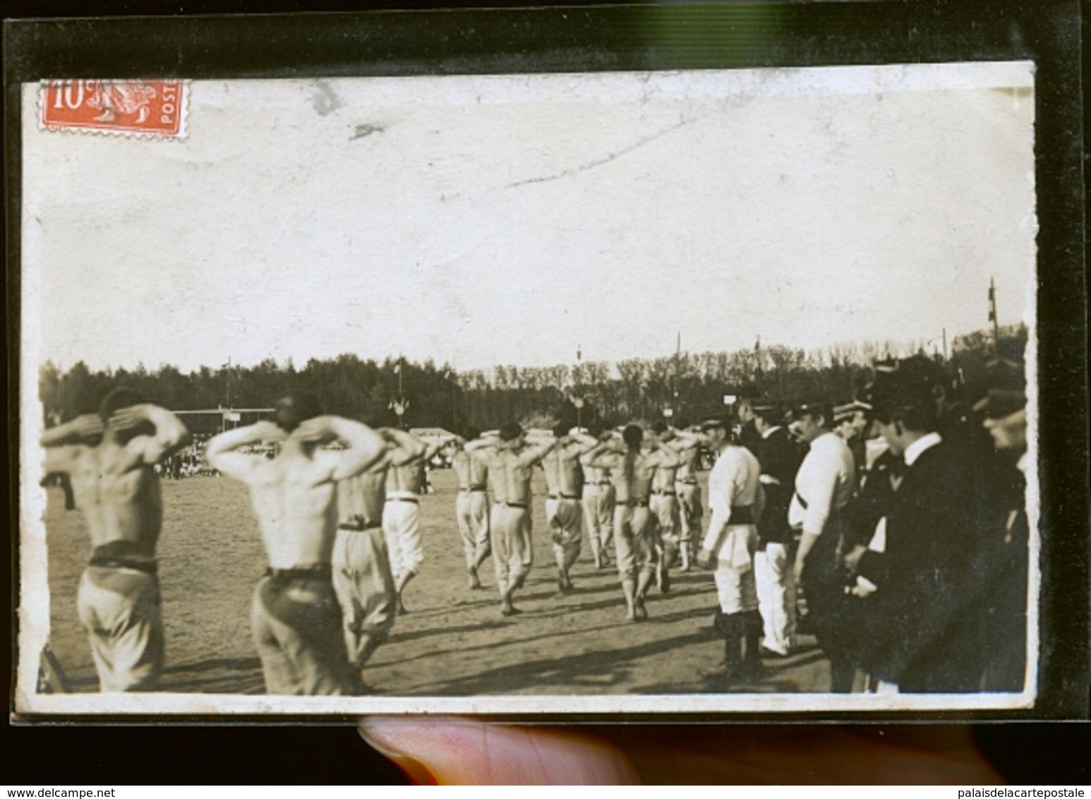
[[[424,445],[407,432],[392,428],[375,432],[386,442],[385,452],[364,472],[337,484],[334,593],[341,608],[348,661],[358,671],[394,627],[397,588],[382,523],[386,472],[424,452]]]

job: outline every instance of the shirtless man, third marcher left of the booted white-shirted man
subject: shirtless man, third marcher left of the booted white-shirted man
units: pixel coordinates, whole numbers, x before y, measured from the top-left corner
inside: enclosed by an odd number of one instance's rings
[[[650,452],[642,452],[644,430],[630,425],[618,441],[612,431],[602,434],[599,443],[585,453],[586,466],[608,468],[616,491],[614,508],[614,549],[622,591],[625,593],[625,618],[639,621],[648,618],[645,595],[656,571],[655,522],[648,511],[651,479],[660,467],[678,468],[678,453],[651,437]],[[623,442],[623,443],[622,443]]]

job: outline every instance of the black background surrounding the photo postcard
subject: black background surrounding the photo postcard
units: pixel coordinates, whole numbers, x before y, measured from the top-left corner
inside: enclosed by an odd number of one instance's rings
[[[472,8],[445,2],[447,9]],[[480,4],[480,3],[477,3]],[[491,1],[493,8],[517,3]],[[1040,362],[1043,420],[1043,664],[1039,720],[978,722],[973,735],[1000,773],[1017,784],[1088,784],[1091,726],[1041,719],[1087,717],[1088,692],[1088,512],[1087,512],[1087,273],[1082,226],[1087,222],[1080,175],[1087,164],[1081,132],[1086,98],[1079,87],[1079,59],[1087,59],[1086,8],[1075,0],[958,3],[919,0],[903,3],[787,3],[741,9],[704,7],[693,12],[702,24],[680,25],[664,37],[662,27],[648,39],[647,17],[628,7],[583,8],[583,22],[561,22],[556,9],[532,21],[519,13],[469,17],[428,14],[386,17],[375,35],[373,21],[316,16],[254,20],[194,15],[232,12],[347,12],[362,9],[434,9],[436,3],[374,2],[58,2],[16,0],[3,5],[5,19],[106,17],[63,23],[53,32],[64,47],[20,47],[4,52],[5,103],[13,80],[39,76],[184,77],[308,74],[404,74],[444,71],[540,71],[583,69],[715,68],[944,61],[1033,58],[1038,63],[1038,186],[1040,193]],[[585,8],[586,7],[586,8]],[[969,8],[967,8],[969,7]],[[1086,7],[1086,3],[1083,4]],[[670,7],[660,7],[657,14]],[[675,12],[678,13],[678,12]],[[113,36],[115,17],[147,15],[125,47],[104,47]],[[573,15],[577,19],[580,14]],[[685,16],[683,14],[683,16]],[[775,19],[772,23],[769,20]],[[127,29],[134,29],[129,27]],[[709,34],[708,32],[712,33]],[[36,34],[37,35],[37,34]],[[1083,40],[1081,40],[1083,35]],[[5,47],[11,39],[5,39]],[[181,43],[181,44],[179,44]],[[25,46],[31,44],[22,40]],[[287,49],[286,49],[287,48]],[[368,55],[361,60],[360,52]],[[284,65],[292,52],[298,64]],[[28,58],[24,57],[29,52]],[[14,58],[13,58],[14,56]],[[1084,75],[1086,80],[1086,75]],[[14,90],[17,92],[17,88]],[[1086,91],[1086,90],[1084,90]],[[1083,106],[1081,107],[1081,103]],[[17,120],[5,108],[4,179],[8,198],[16,196]],[[17,220],[17,205],[15,206]],[[9,226],[12,224],[9,207]],[[16,226],[17,228],[17,226]],[[11,227],[9,227],[11,230]],[[17,229],[12,231],[17,234]],[[17,353],[17,237],[8,239],[8,333],[5,349],[10,396],[14,398]],[[9,458],[3,468],[12,484],[17,474],[13,439],[16,403],[9,403]],[[11,491],[11,529],[17,509]],[[13,542],[14,546],[14,542]],[[0,548],[11,580],[12,550]],[[14,581],[9,583],[14,588]],[[1065,586],[1054,589],[1053,586]],[[12,592],[4,592],[8,618]],[[14,635],[14,630],[12,635]],[[12,640],[5,636],[9,647]],[[0,658],[11,684],[10,652]],[[927,718],[936,720],[935,717]],[[595,729],[595,728],[592,728]],[[717,735],[716,728],[672,725],[614,725],[600,728],[615,742],[663,737]],[[751,729],[735,727],[726,735]],[[877,729],[870,726],[868,729]],[[816,741],[822,729],[813,728]],[[401,772],[373,752],[355,727],[323,726],[7,726],[0,783],[41,785],[123,784],[404,784]],[[700,782],[694,775],[695,782]]]

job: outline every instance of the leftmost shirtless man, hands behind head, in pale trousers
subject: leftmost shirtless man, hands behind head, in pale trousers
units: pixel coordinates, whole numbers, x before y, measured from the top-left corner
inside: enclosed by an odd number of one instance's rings
[[[155,558],[163,498],[155,465],[189,441],[178,417],[124,387],[110,392],[97,415],[41,437],[46,472],[68,476],[94,548],[76,606],[101,691],[152,690],[163,670]]]

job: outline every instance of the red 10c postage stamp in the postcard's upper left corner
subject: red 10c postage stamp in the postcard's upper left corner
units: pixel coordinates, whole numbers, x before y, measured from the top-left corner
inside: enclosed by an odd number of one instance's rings
[[[184,81],[45,81],[41,127],[161,139],[185,138]]]

